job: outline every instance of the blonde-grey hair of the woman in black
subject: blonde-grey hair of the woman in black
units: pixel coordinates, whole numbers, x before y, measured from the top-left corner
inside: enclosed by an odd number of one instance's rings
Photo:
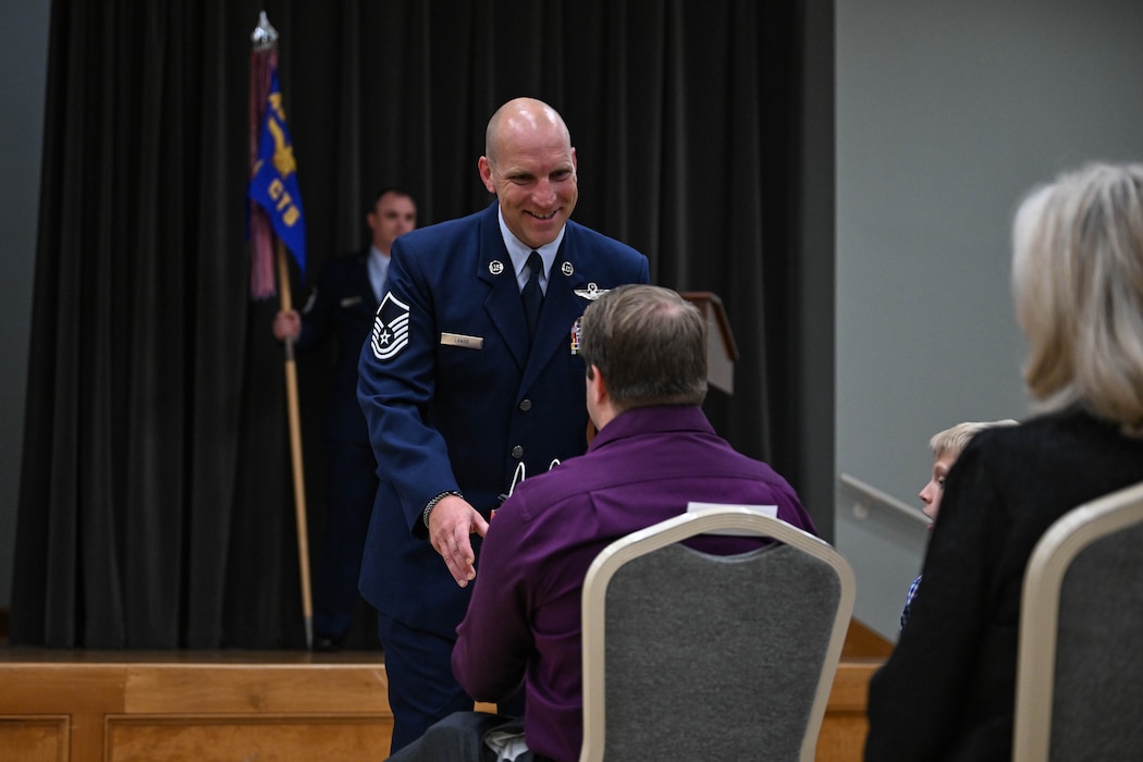
[[[1090,165],[1033,191],[1012,274],[1038,408],[1078,404],[1143,434],[1143,165]]]

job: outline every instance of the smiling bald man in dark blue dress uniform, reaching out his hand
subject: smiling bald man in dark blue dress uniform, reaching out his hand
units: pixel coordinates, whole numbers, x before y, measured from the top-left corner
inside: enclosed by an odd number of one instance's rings
[[[392,247],[358,382],[384,464],[360,591],[378,611],[392,752],[472,708],[450,659],[488,519],[513,480],[586,449],[577,321],[601,291],[650,280],[644,255],[569,220],[576,162],[559,113],[511,101],[478,162],[496,202]]]

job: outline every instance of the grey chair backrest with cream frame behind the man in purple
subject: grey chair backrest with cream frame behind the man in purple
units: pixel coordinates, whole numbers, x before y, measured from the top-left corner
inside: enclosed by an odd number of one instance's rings
[[[679,544],[729,529],[777,543]],[[616,540],[584,579],[581,761],[813,760],[854,595],[829,544],[745,507]]]

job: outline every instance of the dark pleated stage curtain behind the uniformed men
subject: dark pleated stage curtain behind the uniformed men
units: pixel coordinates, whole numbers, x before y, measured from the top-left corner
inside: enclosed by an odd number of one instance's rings
[[[575,219],[646,252],[655,282],[722,298],[742,356],[734,398],[712,392],[708,411],[798,486],[799,8],[54,2],[11,642],[304,647],[278,303],[248,296],[262,9],[309,275],[365,243],[379,187],[409,190],[422,225],[483,208],[488,117],[541,97],[577,149]],[[326,362],[299,359],[314,535]]]

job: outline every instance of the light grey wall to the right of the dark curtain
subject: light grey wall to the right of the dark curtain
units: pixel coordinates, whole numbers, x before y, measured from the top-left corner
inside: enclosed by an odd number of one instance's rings
[[[1026,417],[1009,222],[1033,183],[1143,159],[1137,0],[837,0],[837,467],[910,505],[932,434]],[[895,639],[924,522],[839,489],[856,616]]]

